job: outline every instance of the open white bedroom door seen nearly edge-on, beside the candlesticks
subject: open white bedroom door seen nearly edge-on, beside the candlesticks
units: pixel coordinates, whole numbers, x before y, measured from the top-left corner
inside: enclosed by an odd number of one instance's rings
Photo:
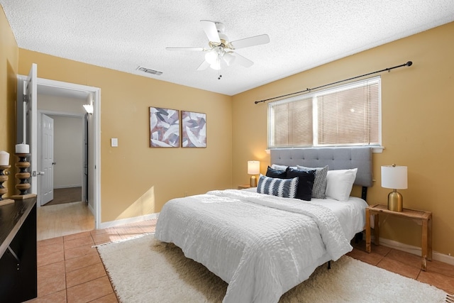
[[[31,194],[38,194],[36,171],[38,169],[38,66],[33,63],[27,77],[27,106],[26,106],[26,143],[30,145]]]

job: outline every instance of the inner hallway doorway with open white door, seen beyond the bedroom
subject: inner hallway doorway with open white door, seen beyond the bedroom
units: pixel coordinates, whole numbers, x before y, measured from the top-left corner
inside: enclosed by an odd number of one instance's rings
[[[38,108],[40,104],[52,104],[52,100],[60,104],[81,103],[81,108],[86,103],[84,99],[38,94]],[[86,116],[83,113],[38,109],[38,172],[44,173],[38,186],[40,206],[88,202],[87,195],[82,194],[88,188],[84,175],[88,148],[85,144],[85,137],[88,136],[85,131]]]

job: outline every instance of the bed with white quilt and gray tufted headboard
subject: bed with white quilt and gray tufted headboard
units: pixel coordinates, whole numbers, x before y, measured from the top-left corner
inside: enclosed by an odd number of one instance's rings
[[[223,302],[278,302],[317,267],[352,250],[350,240],[364,228],[365,195],[372,186],[370,148],[289,148],[271,150],[270,156],[277,168],[328,165],[333,172],[327,187],[334,184],[333,175],[355,170],[353,182],[362,186],[362,198],[302,201],[258,189],[226,189],[167,202],[155,238],[175,243],[187,258],[226,281]]]

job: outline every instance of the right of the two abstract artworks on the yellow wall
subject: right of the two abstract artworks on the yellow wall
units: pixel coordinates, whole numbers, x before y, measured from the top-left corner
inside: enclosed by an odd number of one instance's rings
[[[206,114],[182,111],[182,147],[206,148]]]

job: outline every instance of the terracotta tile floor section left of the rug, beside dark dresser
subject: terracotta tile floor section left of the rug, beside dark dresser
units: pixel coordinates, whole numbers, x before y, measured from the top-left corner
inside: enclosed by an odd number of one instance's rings
[[[38,298],[28,302],[118,302],[93,246],[155,231],[156,220],[38,241]]]

